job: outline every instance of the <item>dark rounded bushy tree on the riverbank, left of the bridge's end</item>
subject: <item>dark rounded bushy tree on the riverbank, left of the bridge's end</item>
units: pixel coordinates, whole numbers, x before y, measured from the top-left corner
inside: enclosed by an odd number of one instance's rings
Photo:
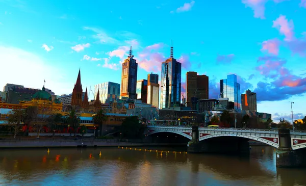
[[[137,116],[126,117],[120,127],[120,131],[123,137],[126,138],[138,138],[141,136],[141,124],[139,123]]]

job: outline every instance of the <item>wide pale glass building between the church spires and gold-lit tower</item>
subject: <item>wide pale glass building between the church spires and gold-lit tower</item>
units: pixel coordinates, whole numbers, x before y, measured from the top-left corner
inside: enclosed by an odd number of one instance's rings
[[[99,91],[101,103],[109,103],[120,98],[120,84],[105,82],[94,86],[94,97]]]

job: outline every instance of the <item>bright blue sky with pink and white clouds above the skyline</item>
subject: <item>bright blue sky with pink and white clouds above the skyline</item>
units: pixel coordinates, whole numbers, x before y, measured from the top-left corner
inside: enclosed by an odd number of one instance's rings
[[[161,74],[170,56],[186,72],[236,74],[241,93],[257,93],[258,112],[291,121],[306,115],[306,0],[41,1],[0,0],[0,87],[7,83],[72,92],[121,83],[130,46],[138,79]],[[93,95],[89,95],[93,99]]]

